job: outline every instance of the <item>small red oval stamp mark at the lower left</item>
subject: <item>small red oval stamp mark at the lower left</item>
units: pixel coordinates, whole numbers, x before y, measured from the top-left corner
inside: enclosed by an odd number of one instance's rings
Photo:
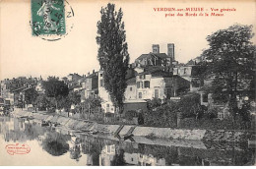
[[[5,149],[10,155],[27,154],[31,152],[31,147],[26,143],[7,144]]]

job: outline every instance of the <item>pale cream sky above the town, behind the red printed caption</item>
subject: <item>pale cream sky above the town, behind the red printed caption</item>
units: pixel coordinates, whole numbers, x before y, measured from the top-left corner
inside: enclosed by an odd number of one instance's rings
[[[67,0],[74,11],[70,21],[73,28],[57,41],[46,41],[32,35],[30,0],[2,0],[0,2],[0,79],[20,76],[47,78],[64,77],[70,73],[86,75],[99,69],[96,44],[96,23],[100,8],[108,2],[122,8],[128,52],[131,63],[141,54],[152,51],[152,44],[160,44],[166,53],[167,43],[175,45],[175,59],[186,63],[208,48],[207,35],[233,24],[253,25],[256,28],[255,1],[86,1]],[[156,12],[154,8],[204,8],[203,13],[215,9],[235,9],[218,13],[222,17],[165,17],[177,12]],[[193,12],[191,12],[193,13]],[[199,12],[196,12],[199,15]],[[255,44],[255,37],[252,39]]]

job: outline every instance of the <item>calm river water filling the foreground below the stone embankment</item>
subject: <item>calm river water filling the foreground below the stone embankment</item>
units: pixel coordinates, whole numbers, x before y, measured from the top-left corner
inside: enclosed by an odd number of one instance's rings
[[[247,142],[171,141],[169,145],[166,140],[105,138],[0,117],[0,165],[255,165],[255,147]],[[22,154],[7,149],[25,144],[30,151]]]

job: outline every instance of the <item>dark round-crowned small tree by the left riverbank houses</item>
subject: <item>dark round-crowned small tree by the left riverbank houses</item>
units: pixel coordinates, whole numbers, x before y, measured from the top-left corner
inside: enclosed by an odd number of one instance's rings
[[[59,81],[55,77],[49,77],[47,81],[42,82],[42,86],[45,89],[45,94],[48,97],[53,97],[55,99],[55,106],[58,108],[58,98],[61,96],[67,96],[69,94],[69,88],[67,84]]]

